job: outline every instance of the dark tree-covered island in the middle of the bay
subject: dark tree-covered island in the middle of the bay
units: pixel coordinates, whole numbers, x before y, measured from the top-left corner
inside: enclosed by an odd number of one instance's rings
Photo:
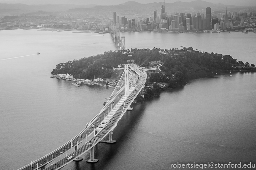
[[[59,63],[51,74],[72,74],[78,79],[118,80],[122,70],[117,68],[121,68],[127,60],[134,60],[142,68],[156,68],[148,73],[149,84],[146,86],[145,98],[159,95],[164,89],[186,85],[186,78],[193,73],[207,75],[212,72],[256,71],[254,64],[237,61],[230,55],[202,52],[181,46],[180,49],[135,48],[108,51],[80,60]]]

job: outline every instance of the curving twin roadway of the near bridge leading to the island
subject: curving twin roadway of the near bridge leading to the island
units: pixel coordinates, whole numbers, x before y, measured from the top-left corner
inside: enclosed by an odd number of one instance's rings
[[[44,156],[36,161],[31,162],[18,170],[34,170],[45,167],[45,170],[58,170],[69,162],[78,158],[85,152],[89,151],[102,139],[104,139],[112,130],[117,126],[118,121],[121,119],[123,114],[126,112],[128,107],[132,104],[133,100],[143,89],[146,82],[146,73],[142,72],[137,65],[128,64],[129,70],[129,95],[125,95],[125,86],[121,87],[120,90],[108,100],[107,104],[101,109],[101,111],[94,117],[94,119],[86,125],[85,129],[81,131],[78,135],[72,138],[69,142],[65,143],[58,149],[52,151],[47,156]],[[133,74],[131,71],[133,71]],[[137,77],[137,78],[136,78]],[[98,133],[96,134],[95,131]],[[93,134],[93,136],[91,136]],[[73,153],[67,154],[68,150],[79,146],[79,144],[84,144],[80,148],[76,148]],[[89,140],[88,140],[89,139]],[[52,159],[55,159],[63,154],[66,154],[64,158],[59,161],[52,163]],[[68,157],[73,156],[70,160]]]

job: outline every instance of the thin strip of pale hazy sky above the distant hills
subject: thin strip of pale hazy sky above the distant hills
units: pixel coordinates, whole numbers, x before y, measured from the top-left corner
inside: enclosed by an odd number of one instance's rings
[[[96,4],[96,5],[117,5],[129,0],[0,0],[0,3],[23,3],[23,4]],[[164,0],[134,0],[136,2],[147,4],[152,2],[164,2]],[[191,2],[192,0],[165,0],[172,3],[176,1]],[[205,0],[214,4],[222,3],[225,5],[237,6],[256,6],[256,0]]]

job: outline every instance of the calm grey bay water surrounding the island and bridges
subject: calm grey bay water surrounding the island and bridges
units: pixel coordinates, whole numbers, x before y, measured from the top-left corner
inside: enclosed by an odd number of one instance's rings
[[[241,32],[121,33],[126,47],[180,48],[231,55],[256,64],[256,34]],[[103,107],[112,88],[50,78],[55,65],[117,50],[110,34],[6,30],[0,32],[0,169],[18,169],[58,148]],[[36,55],[40,52],[40,55]],[[24,57],[22,57],[24,56]],[[18,58],[16,58],[18,57]],[[10,59],[13,58],[13,59]],[[179,163],[254,162],[256,74],[232,72],[190,80],[134,105],[99,143],[99,162],[63,170],[170,169]]]

